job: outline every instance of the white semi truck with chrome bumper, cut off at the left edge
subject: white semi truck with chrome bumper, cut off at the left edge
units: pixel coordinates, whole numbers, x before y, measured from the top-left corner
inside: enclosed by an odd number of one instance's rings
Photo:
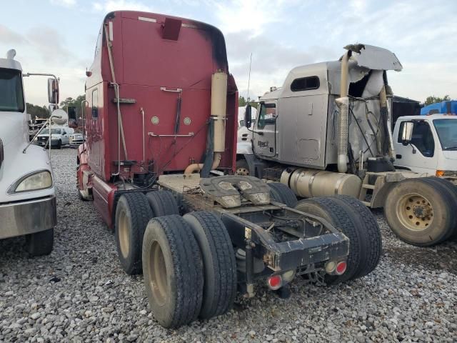
[[[23,76],[35,74],[23,74],[15,55],[0,59],[0,239],[25,235],[29,254],[39,256],[54,244],[56,190],[48,154],[29,142]],[[57,104],[55,76],[48,86]]]

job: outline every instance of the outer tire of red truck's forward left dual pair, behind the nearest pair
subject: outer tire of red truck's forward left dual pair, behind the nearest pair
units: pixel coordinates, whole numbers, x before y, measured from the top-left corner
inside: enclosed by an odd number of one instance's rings
[[[123,194],[116,206],[114,232],[121,267],[129,275],[141,273],[141,246],[144,229],[153,217],[144,194]]]

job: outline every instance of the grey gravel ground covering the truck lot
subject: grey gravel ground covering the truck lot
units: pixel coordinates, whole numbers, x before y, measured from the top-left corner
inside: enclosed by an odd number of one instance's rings
[[[398,241],[382,212],[377,269],[338,287],[265,287],[228,314],[167,330],[149,311],[143,278],[122,272],[114,237],[75,192],[76,150],[53,151],[54,252],[29,259],[24,238],[0,241],[0,342],[457,342],[457,242]]]

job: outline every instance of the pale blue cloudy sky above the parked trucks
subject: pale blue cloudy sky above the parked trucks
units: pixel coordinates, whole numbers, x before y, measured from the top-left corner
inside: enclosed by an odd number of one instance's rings
[[[457,1],[15,0],[2,1],[0,56],[16,49],[25,72],[56,74],[61,100],[84,94],[104,16],[120,9],[212,24],[226,38],[229,69],[243,96],[281,86],[294,66],[332,61],[347,44],[393,51],[393,93],[423,101],[457,99]],[[248,93],[249,59],[252,54]],[[26,99],[46,104],[46,78],[26,78]]]

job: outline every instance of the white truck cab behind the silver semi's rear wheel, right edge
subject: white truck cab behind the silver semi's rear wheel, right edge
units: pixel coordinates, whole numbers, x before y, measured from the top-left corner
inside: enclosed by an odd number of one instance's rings
[[[397,169],[428,176],[457,175],[457,116],[401,116],[393,129],[393,141]]]

